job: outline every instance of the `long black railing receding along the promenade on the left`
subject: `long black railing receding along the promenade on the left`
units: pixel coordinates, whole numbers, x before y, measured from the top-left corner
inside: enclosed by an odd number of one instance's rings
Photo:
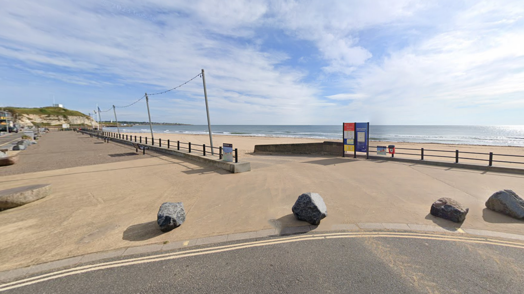
[[[96,135],[97,137],[115,138],[115,139],[125,140],[129,142],[136,142],[136,143],[140,143],[144,145],[150,144],[151,146],[155,146],[155,144],[157,144],[159,148],[166,148],[166,149],[176,148],[177,150],[182,149],[182,150],[187,150],[188,153],[202,152],[202,156],[206,156],[209,154],[211,155],[216,154],[219,156],[219,159],[223,159],[223,156],[224,156],[224,153],[222,152],[223,151],[222,146],[220,147],[213,146],[212,147],[212,146],[206,146],[205,144],[199,145],[199,144],[194,144],[191,142],[170,141],[169,139],[168,140],[151,139],[151,138],[142,137],[142,136],[119,134],[119,133],[114,133],[114,132],[97,131],[97,130],[79,129],[79,131],[89,134],[91,135],[91,137],[93,137],[93,135]],[[176,145],[174,145],[174,143],[176,143]],[[198,149],[199,147],[201,147],[201,149]],[[218,153],[216,151],[218,151]],[[235,159],[235,163],[238,163],[238,149],[235,148],[233,152],[235,153],[233,155],[233,158]]]

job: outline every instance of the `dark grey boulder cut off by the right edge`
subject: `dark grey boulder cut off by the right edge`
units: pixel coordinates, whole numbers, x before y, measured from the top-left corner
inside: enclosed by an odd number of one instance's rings
[[[524,200],[512,190],[496,192],[486,201],[486,207],[512,218],[524,220]]]

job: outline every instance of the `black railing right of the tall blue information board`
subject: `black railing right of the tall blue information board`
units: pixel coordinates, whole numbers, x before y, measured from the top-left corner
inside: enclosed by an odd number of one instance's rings
[[[369,146],[369,149],[371,148],[377,148],[377,146]],[[403,153],[403,152],[396,152],[396,150],[416,150],[420,151],[418,154],[414,153]],[[435,154],[427,154],[424,152],[448,152],[448,153],[455,153],[454,156],[446,156],[446,155],[435,155]],[[377,152],[373,150],[369,150],[369,152]],[[455,160],[455,163],[459,163],[459,160],[466,159],[466,160],[477,160],[477,161],[487,161],[488,166],[493,166],[494,162],[502,162],[502,163],[516,163],[516,164],[524,164],[523,162],[517,162],[517,161],[504,161],[504,160],[494,160],[494,156],[512,156],[512,157],[522,157],[524,158],[524,155],[512,155],[512,154],[495,154],[493,152],[489,153],[482,153],[482,152],[469,152],[469,151],[459,151],[459,150],[434,150],[434,149],[413,149],[413,148],[395,148],[395,153],[391,154],[391,157],[395,157],[396,154],[402,154],[402,155],[414,155],[414,156],[420,156],[420,160],[424,160],[424,156],[430,156],[430,157],[444,157],[444,158],[452,158]],[[472,157],[461,157],[461,154],[478,154],[478,155],[486,155],[486,159],[481,158],[472,158]],[[466,155],[467,156],[467,155]]]

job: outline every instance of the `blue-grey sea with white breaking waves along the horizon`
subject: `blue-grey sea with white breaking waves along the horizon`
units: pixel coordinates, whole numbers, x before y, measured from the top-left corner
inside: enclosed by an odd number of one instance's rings
[[[112,129],[112,128],[111,128]],[[121,126],[123,132],[149,132],[149,126]],[[339,126],[213,125],[213,134],[249,137],[342,139]],[[209,134],[207,125],[153,126],[155,133]],[[524,126],[369,126],[370,141],[524,146]]]

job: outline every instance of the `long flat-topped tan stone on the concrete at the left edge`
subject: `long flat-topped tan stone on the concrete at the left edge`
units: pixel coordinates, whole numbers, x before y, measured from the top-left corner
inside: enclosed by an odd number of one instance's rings
[[[0,209],[18,207],[51,194],[51,184],[29,185],[0,191]]]

